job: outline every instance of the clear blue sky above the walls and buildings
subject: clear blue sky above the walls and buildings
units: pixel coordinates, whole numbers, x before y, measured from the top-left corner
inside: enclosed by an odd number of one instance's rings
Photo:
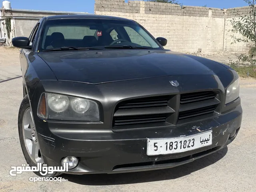
[[[0,0],[1,4],[3,0]],[[95,0],[8,0],[13,9],[71,11],[94,13]],[[125,0],[128,2],[128,0]],[[146,1],[146,0],[145,0]],[[244,0],[178,0],[183,5],[214,8],[247,6]]]

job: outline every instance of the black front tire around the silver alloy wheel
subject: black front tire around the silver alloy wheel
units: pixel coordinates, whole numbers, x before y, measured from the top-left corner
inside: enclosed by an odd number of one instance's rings
[[[29,139],[24,136],[24,134],[25,134],[25,128],[24,128],[25,127],[24,126],[24,122],[25,122],[24,118],[25,117],[24,116],[28,115],[28,113],[30,113],[30,112],[28,112],[28,110],[30,110],[30,103],[29,103],[29,100],[28,100],[28,96],[26,95],[26,96],[24,96],[24,98],[23,98],[23,100],[22,100],[22,102],[20,104],[20,110],[19,110],[19,114],[18,114],[18,132],[19,132],[19,138],[20,138],[20,146],[22,148],[22,152],[23,152],[24,158],[25,158],[27,164],[31,167],[31,166],[37,166],[37,164],[35,162],[36,160],[32,158],[32,154],[29,153],[28,145],[26,144],[27,141],[29,142]],[[27,126],[26,130],[31,129],[31,124],[32,123],[30,123]],[[34,127],[34,131],[36,132],[34,125],[33,125],[33,127]],[[25,141],[24,138],[26,139],[26,141]],[[31,140],[31,142],[33,143],[33,140]],[[39,145],[38,142],[36,142],[36,144]],[[43,160],[39,156],[40,156],[40,150],[38,152],[38,158],[37,159],[40,159],[42,164],[43,164]],[[34,173],[36,175],[38,175],[38,176],[41,176],[41,177],[56,177],[56,176],[62,174],[62,173],[59,173],[59,172],[54,172],[52,174],[46,174],[45,176],[42,176],[39,171],[38,172],[34,172]]]

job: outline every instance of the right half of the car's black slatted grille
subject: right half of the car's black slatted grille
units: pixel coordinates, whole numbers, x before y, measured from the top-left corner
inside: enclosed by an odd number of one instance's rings
[[[193,121],[216,116],[215,111],[220,104],[216,96],[217,92],[214,91],[181,94],[178,124],[186,119]]]

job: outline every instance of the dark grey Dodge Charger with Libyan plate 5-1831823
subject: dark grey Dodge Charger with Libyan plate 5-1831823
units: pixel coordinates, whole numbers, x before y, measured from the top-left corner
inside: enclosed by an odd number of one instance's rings
[[[238,74],[164,49],[167,40],[136,21],[48,16],[12,44],[20,48],[18,133],[30,166],[67,164],[69,174],[172,168],[224,148],[240,129]]]

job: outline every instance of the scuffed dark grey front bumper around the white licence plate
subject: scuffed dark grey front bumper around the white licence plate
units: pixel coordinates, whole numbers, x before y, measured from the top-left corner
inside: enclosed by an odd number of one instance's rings
[[[234,109],[215,118],[175,126],[146,130],[72,131],[75,124],[44,122],[38,129],[38,141],[44,163],[61,166],[62,158],[75,156],[79,160],[69,174],[121,173],[172,168],[216,152],[236,138],[242,121],[242,108]],[[42,123],[43,125],[43,123]],[[40,130],[48,130],[40,132]],[[212,130],[212,145],[196,150],[167,155],[147,155],[148,138],[190,136]],[[230,138],[230,133],[236,134]],[[72,134],[70,134],[72,132]]]

